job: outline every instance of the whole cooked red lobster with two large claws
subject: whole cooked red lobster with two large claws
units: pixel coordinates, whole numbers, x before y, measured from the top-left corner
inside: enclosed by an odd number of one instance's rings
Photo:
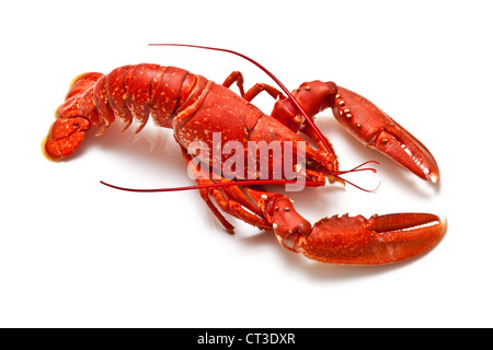
[[[230,90],[233,83],[240,94]],[[391,264],[434,247],[446,231],[446,221],[435,214],[375,214],[368,219],[344,214],[311,225],[286,195],[265,190],[263,185],[270,183],[293,184],[286,170],[298,174],[309,187],[346,182],[342,175],[347,172],[339,170],[332,144],[313,122],[314,116],[326,108],[332,108],[339,122],[367,147],[425,180],[439,179],[438,165],[425,145],[365,97],[333,82],[305,82],[291,93],[280,86],[285,93],[265,83],[244,92],[243,75],[238,71],[217,84],[181,68],[152,63],[124,66],[108,74],[84,73],[72,81],[56,112],[45,141],[45,154],[51,160],[66,158],[76,151],[91,127],[101,135],[115,119],[124,122],[124,130],[137,121],[139,132],[151,116],[156,126],[173,130],[190,174],[197,183],[193,188],[199,190],[229,233],[233,233],[233,225],[222,212],[272,230],[280,245],[291,252],[340,265]],[[251,103],[262,92],[276,100],[271,115]],[[206,148],[215,147],[217,136],[243,149],[219,155],[205,152]],[[203,148],[193,153],[191,148],[197,141]],[[249,171],[248,178],[236,176],[239,172],[233,172],[234,176],[231,172],[218,172],[218,166],[225,167],[233,156],[244,161],[236,164],[236,171],[242,170],[252,159],[252,152],[244,149],[254,141],[278,142],[282,147],[280,158],[272,152],[253,155],[255,170],[262,162],[268,163],[267,179],[262,180],[257,171]],[[300,154],[302,166],[300,162],[285,166],[286,174],[282,173],[277,182],[273,179],[275,166],[286,165],[287,155],[293,159]]]

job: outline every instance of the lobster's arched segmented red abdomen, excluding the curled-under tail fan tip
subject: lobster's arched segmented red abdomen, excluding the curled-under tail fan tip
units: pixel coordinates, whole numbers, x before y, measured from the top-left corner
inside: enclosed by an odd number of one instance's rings
[[[87,117],[107,127],[116,116],[127,126],[134,119],[144,126],[151,114],[157,125],[169,128],[196,81],[186,70],[150,63],[123,66],[106,75],[85,73],[74,80],[57,117]]]

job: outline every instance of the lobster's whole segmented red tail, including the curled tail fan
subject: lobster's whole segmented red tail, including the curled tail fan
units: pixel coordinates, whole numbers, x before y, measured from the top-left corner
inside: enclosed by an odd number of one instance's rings
[[[106,75],[81,74],[73,80],[65,103],[57,109],[46,153],[59,159],[80,144],[89,127],[84,125],[79,129],[79,122],[69,120],[71,118],[87,119],[100,128],[99,133],[115,118],[125,124],[125,129],[133,120],[140,122],[138,132],[149,115],[156,125],[171,128],[179,109],[202,93],[198,85],[203,81],[207,80],[186,70],[151,63],[123,66]]]

